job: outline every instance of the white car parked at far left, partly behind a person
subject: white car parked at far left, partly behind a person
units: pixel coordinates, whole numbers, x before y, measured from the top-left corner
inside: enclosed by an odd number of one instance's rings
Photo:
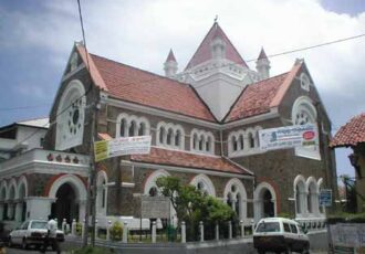
[[[28,248],[30,245],[42,245],[48,234],[46,223],[44,220],[25,221],[19,229],[10,232],[9,246],[21,245],[22,248]],[[56,239],[60,242],[64,241],[63,231],[56,231]]]

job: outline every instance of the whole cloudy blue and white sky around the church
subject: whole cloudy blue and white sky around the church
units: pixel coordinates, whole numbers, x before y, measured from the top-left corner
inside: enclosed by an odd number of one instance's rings
[[[170,49],[181,71],[218,15],[249,66],[268,55],[365,33],[364,0],[81,0],[90,52],[157,74]],[[48,116],[75,41],[76,0],[0,1],[0,126]],[[365,112],[365,36],[272,57],[271,75],[304,59],[333,134]],[[336,149],[338,174],[354,176]]]

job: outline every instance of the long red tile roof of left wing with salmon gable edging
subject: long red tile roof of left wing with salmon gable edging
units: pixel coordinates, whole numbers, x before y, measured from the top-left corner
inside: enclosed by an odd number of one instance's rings
[[[77,46],[86,63],[84,47]],[[111,97],[208,121],[216,121],[209,108],[188,84],[156,75],[94,54],[88,54],[95,85]]]

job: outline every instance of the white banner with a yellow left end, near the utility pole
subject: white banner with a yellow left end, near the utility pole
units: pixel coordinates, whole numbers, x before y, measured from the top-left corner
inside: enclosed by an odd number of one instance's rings
[[[126,155],[148,155],[150,136],[115,138],[94,142],[95,161]]]

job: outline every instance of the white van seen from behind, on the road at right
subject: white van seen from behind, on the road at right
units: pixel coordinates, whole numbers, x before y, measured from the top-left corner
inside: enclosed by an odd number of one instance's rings
[[[309,253],[310,240],[301,225],[284,218],[261,219],[253,232],[253,246],[259,254],[275,253]]]

